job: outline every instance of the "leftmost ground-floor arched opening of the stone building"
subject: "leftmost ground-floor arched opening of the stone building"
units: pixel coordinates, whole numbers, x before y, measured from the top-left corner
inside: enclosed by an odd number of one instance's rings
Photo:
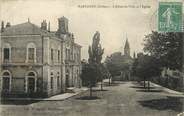
[[[2,92],[8,93],[11,90],[11,73],[3,71],[2,73]]]

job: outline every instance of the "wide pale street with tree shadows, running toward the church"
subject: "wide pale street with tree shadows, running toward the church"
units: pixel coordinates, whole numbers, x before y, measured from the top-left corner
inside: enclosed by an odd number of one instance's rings
[[[64,101],[2,102],[2,116],[177,116],[183,111],[183,98],[152,87],[145,90],[137,82],[106,83]]]

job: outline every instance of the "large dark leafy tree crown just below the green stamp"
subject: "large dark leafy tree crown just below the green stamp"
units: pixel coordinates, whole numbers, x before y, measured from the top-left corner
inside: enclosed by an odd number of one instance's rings
[[[144,51],[160,61],[161,67],[180,70],[182,67],[183,33],[152,32],[145,36]]]

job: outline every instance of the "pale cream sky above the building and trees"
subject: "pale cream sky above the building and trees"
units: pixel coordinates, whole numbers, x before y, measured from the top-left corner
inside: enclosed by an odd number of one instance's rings
[[[166,1],[166,0],[165,0]],[[69,19],[69,31],[82,46],[82,59],[88,58],[88,46],[93,35],[100,32],[105,48],[103,59],[114,52],[122,52],[126,38],[133,52],[142,52],[146,34],[156,29],[157,0],[0,0],[0,20],[11,25],[27,22],[40,26],[50,21],[51,31],[58,28],[58,18]],[[79,5],[103,5],[108,8],[80,8]],[[112,8],[113,5],[128,6]],[[132,6],[147,6],[147,8]]]

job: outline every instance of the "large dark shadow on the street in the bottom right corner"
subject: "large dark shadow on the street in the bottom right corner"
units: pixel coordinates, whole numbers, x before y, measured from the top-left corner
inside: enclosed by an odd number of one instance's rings
[[[138,101],[143,107],[148,107],[156,110],[173,110],[177,112],[183,111],[184,98],[179,97],[167,97],[163,99],[152,99],[145,101]]]

